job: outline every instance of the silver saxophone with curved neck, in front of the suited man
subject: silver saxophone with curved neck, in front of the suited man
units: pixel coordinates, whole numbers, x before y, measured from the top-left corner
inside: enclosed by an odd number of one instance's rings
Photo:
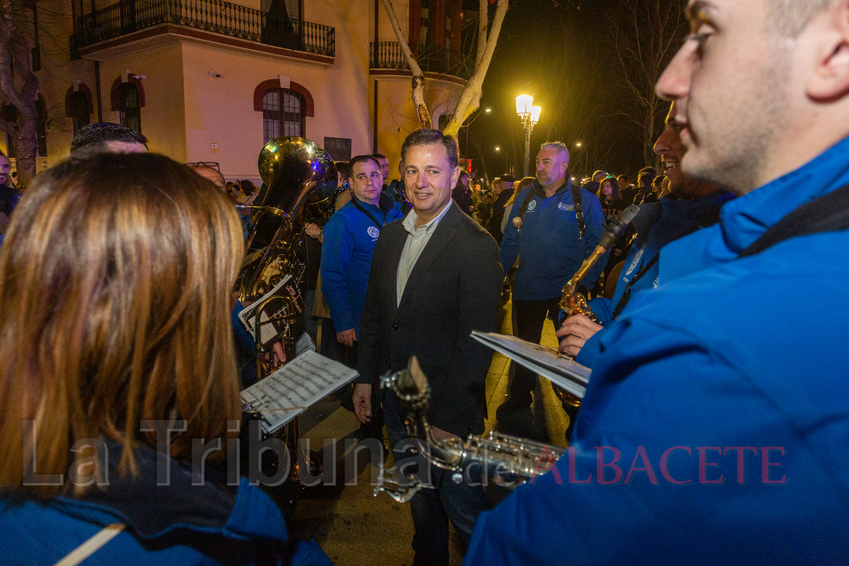
[[[461,483],[464,473],[470,467],[480,466],[482,474],[501,480],[506,485],[517,485],[544,474],[565,454],[565,450],[558,446],[494,431],[483,436],[469,434],[466,440],[457,436],[437,439],[431,433],[426,417],[430,405],[430,385],[416,356],[410,358],[406,370],[380,378],[380,387],[391,389],[399,405],[407,412],[404,421],[407,433],[410,438],[422,440],[424,444],[418,452],[430,464],[453,472],[451,480],[454,483]],[[404,474],[397,465],[388,470],[381,466],[374,496],[385,491],[396,502],[404,503],[410,501],[422,488],[432,487],[419,482],[415,476]]]

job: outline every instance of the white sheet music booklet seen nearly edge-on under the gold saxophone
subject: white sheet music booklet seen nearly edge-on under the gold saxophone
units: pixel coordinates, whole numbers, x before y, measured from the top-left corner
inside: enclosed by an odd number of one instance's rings
[[[570,357],[564,356],[556,348],[549,348],[515,336],[494,332],[477,332],[475,330],[471,333],[471,336],[481,344],[489,346],[492,350],[496,350],[559,385],[579,399],[582,399],[584,393],[587,392],[587,384],[593,370],[582,366]]]

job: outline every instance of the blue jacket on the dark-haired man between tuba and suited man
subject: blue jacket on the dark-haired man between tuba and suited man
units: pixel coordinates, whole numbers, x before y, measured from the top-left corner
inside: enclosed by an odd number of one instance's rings
[[[356,197],[355,197],[356,198]],[[401,205],[380,195],[380,207],[358,202],[383,227],[402,218]],[[360,335],[360,318],[366,301],[368,272],[380,228],[351,200],[337,210],[324,226],[321,250],[321,292],[330,309],[333,325],[341,332],[353,328]]]

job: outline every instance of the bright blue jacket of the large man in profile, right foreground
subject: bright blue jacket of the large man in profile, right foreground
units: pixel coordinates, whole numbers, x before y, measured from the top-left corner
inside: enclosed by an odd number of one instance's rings
[[[556,473],[482,513],[464,564],[849,563],[849,231],[739,258],[846,184],[849,138],[667,245],[584,346]]]

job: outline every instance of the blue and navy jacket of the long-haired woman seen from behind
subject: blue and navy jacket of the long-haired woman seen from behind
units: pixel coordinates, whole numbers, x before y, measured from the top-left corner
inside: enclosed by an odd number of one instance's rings
[[[207,467],[205,484],[193,485],[188,467],[147,446],[135,451],[138,476],[121,478],[116,472],[121,445],[105,446],[106,486],[91,486],[80,497],[32,499],[8,491],[0,496],[0,563],[58,563],[108,525],[122,525],[83,563],[330,565],[314,541],[288,541],[280,510],[247,479],[233,496],[208,481]],[[157,485],[160,466],[169,469],[167,485]]]

